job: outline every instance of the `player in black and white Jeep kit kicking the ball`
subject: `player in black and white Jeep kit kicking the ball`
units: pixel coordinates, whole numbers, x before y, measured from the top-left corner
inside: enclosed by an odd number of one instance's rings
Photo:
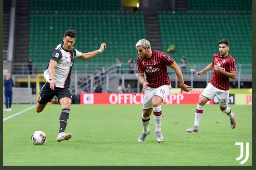
[[[44,71],[46,83],[42,87],[37,102],[36,112],[42,112],[48,102],[56,95],[61,105],[60,129],[57,141],[69,140],[71,133],[64,133],[68,124],[69,110],[72,94],[69,90],[70,76],[75,58],[88,60],[102,53],[106,44],[102,43],[98,50],[89,53],[81,53],[73,45],[76,41],[76,31],[67,30],[63,37],[63,43],[57,45],[52,51],[52,56],[47,69]]]

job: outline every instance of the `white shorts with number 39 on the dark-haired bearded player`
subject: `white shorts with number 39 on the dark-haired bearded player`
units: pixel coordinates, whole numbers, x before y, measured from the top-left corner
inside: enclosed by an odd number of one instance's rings
[[[210,100],[216,95],[219,100],[219,105],[222,107],[226,107],[229,104],[229,90],[219,90],[211,83],[208,83],[201,95]]]

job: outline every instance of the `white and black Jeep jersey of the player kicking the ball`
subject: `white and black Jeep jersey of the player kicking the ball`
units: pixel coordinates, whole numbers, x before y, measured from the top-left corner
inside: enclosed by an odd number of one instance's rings
[[[82,53],[76,50],[74,47],[72,47],[70,51],[65,50],[63,48],[63,44],[59,44],[55,49],[53,49],[50,60],[57,61],[57,65],[54,68],[56,87],[66,88],[70,86],[72,66],[75,58],[80,57],[81,55]],[[44,71],[44,78],[50,83],[48,67]]]

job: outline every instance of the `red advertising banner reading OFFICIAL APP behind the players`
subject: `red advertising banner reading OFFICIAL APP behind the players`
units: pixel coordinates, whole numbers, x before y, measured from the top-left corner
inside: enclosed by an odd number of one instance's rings
[[[166,98],[167,105],[196,105],[201,94],[170,94]],[[141,105],[144,93],[82,93],[80,104],[91,105]],[[207,104],[213,104],[213,100]]]

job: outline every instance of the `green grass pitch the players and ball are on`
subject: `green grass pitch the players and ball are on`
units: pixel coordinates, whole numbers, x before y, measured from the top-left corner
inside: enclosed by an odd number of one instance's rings
[[[32,105],[13,105],[3,118]],[[162,105],[164,141],[155,139],[151,115],[151,134],[142,143],[141,105],[71,105],[65,132],[68,141],[56,141],[59,133],[59,105],[47,105],[41,113],[35,108],[3,122],[3,165],[235,165],[240,146],[249,142],[252,165],[252,106],[230,105],[236,113],[237,127],[230,128],[229,117],[218,105],[206,105],[199,132],[188,133],[193,125],[196,105]],[[3,105],[3,109],[5,106]],[[43,131],[43,146],[31,143],[34,131]],[[244,148],[245,150],[245,148]],[[245,154],[244,154],[245,157]]]

